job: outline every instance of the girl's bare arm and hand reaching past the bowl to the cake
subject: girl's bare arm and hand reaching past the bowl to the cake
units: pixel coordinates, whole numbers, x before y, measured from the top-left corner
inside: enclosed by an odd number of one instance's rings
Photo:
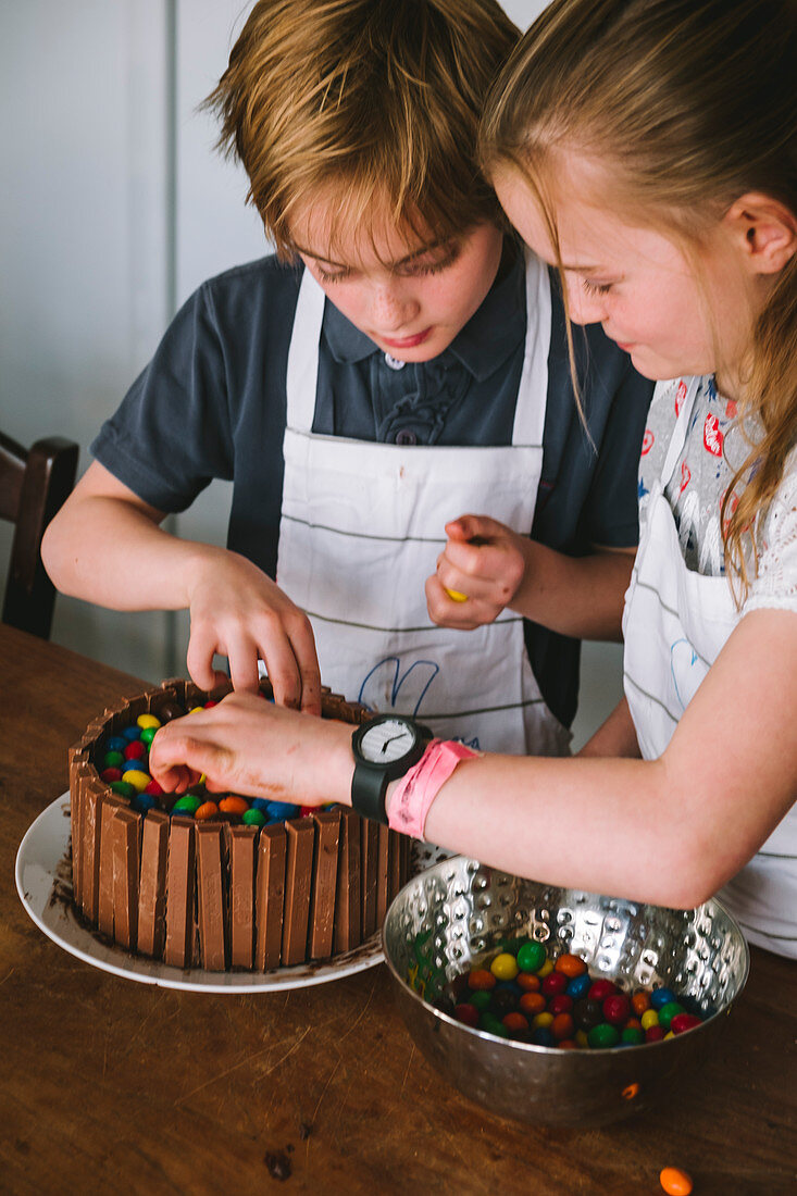
[[[351,727],[249,696],[169,724],[151,764],[168,788],[206,773],[219,789],[351,803]],[[738,872],[796,795],[797,618],[755,611],[659,759],[467,759],[432,804],[426,837],[549,884],[690,908]]]

